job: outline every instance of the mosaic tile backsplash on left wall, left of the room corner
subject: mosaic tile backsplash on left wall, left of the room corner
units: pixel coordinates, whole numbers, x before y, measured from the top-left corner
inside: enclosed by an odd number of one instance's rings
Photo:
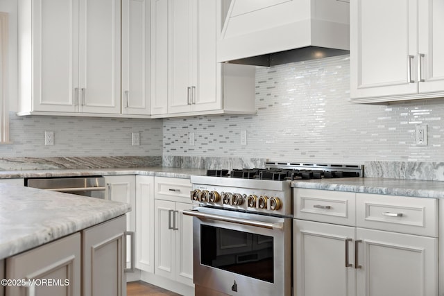
[[[46,130],[54,146],[44,145]],[[132,132],[140,132],[140,146],[131,146]],[[162,120],[10,113],[10,141],[0,145],[0,157],[161,156]]]

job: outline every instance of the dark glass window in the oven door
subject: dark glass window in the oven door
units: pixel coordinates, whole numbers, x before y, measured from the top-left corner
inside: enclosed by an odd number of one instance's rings
[[[200,225],[200,263],[273,283],[273,236]]]

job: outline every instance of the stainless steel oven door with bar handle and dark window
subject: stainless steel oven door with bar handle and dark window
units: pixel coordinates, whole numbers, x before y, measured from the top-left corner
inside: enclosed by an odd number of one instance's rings
[[[291,295],[291,218],[197,207],[198,295]]]

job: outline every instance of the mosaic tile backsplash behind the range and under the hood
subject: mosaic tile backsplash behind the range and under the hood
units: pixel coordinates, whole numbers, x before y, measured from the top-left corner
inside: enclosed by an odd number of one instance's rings
[[[443,99],[391,105],[349,103],[349,55],[257,67],[254,116],[164,119],[163,156],[293,162],[439,162],[444,159]],[[415,125],[428,125],[428,146]],[[246,130],[247,145],[241,146]],[[195,146],[188,134],[195,133]]]

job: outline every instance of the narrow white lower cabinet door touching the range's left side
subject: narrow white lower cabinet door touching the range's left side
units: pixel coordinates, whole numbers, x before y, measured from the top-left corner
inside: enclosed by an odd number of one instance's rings
[[[191,204],[176,202],[176,280],[193,286],[193,217],[185,216]]]

